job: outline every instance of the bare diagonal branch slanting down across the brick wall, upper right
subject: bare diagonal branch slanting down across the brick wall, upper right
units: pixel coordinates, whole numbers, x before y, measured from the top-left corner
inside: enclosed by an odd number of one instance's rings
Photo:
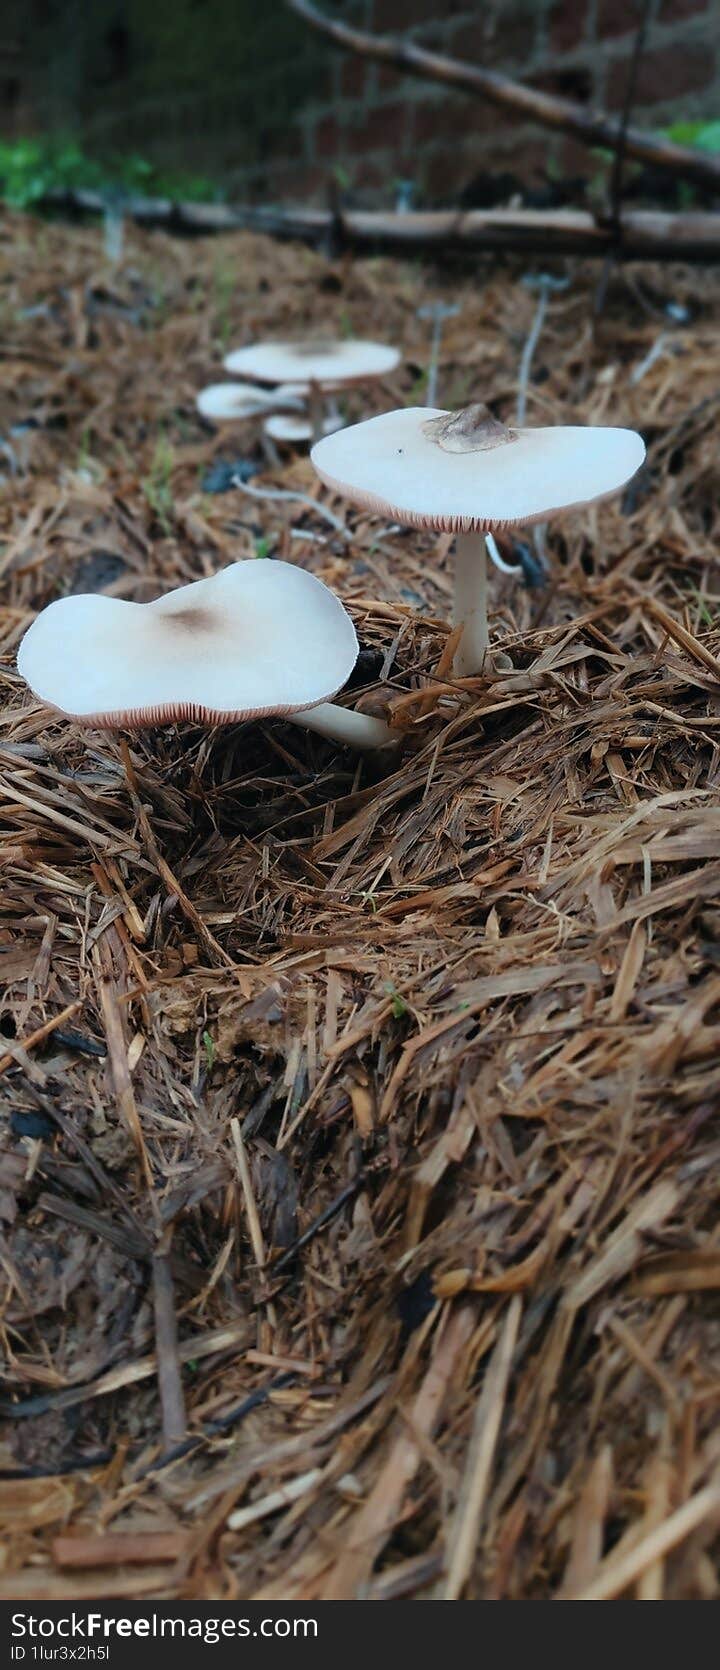
[[[586,145],[616,150],[623,142],[626,157],[675,174],[693,185],[720,192],[718,157],[692,150],[688,145],[675,145],[668,139],[657,139],[636,127],[626,127],[623,134],[621,122],[613,117],[585,110],[583,105],[573,104],[570,99],[555,99],[550,94],[523,87],[521,82],[513,82],[510,75],[499,75],[496,70],[483,70],[478,65],[463,63],[459,58],[428,52],[398,35],[366,35],[359,28],[324,17],[311,0],[286,0],[286,5],[304,23],[332,40],[336,47],[357,52],[364,58],[391,63],[406,75],[421,75],[433,82],[444,82],[448,87],[458,87],[461,92],[515,110],[530,122],[540,122],[541,127],[575,134]]]

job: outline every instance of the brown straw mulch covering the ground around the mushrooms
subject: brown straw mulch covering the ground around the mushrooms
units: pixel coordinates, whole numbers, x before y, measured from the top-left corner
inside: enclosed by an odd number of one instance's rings
[[[398,341],[359,416],[451,296],[441,402],[510,418],[521,279],[3,222],[5,1598],[718,1595],[718,281],[553,297],[528,419],[648,468],[493,573],[510,675],[448,675],[446,539],[302,456],[252,484],[317,508],[202,489],[262,332]],[[52,598],[256,554],[339,590],[396,758],[22,686]]]

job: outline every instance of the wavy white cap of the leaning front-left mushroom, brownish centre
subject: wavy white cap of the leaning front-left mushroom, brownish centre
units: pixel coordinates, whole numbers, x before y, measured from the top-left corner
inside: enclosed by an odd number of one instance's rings
[[[356,658],[352,621],[321,579],[251,559],[155,603],[60,598],[17,665],[70,718],[140,726],[299,713],[334,696]]]

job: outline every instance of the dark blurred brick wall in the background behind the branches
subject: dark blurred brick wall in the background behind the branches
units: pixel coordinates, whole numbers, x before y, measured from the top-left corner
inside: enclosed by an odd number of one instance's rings
[[[620,110],[640,0],[322,0],[548,92]],[[281,0],[5,0],[0,127],[80,132],[212,172],[236,195],[366,202],[591,174],[585,147],[438,84],[337,53]],[[720,117],[720,0],[652,0],[635,120]],[[10,55],[8,55],[10,53]]]

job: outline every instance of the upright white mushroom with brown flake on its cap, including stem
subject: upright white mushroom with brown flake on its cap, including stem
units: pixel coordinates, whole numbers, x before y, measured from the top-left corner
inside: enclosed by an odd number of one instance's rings
[[[484,534],[606,498],[640,469],[645,444],[633,429],[508,429],[479,404],[411,406],[327,436],[311,458],[321,481],[354,504],[458,536],[454,671],[464,678],[488,653]]]

